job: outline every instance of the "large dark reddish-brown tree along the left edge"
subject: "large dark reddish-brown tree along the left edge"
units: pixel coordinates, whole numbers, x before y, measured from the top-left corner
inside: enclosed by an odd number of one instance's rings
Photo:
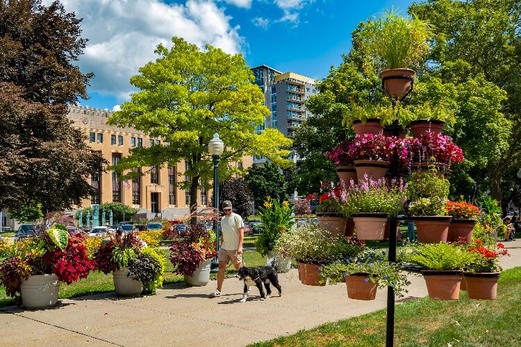
[[[0,208],[63,210],[90,195],[104,163],[67,119],[92,74],[73,63],[81,19],[58,1],[0,1]]]

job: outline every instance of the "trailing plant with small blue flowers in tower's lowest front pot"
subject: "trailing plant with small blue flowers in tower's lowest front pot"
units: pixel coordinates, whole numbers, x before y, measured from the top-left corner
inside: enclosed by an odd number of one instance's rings
[[[343,282],[345,276],[364,273],[371,282],[378,281],[380,289],[390,286],[397,296],[402,297],[408,292],[405,286],[411,282],[407,280],[399,264],[389,262],[387,258],[386,251],[366,248],[354,257],[346,257],[339,262],[323,266],[320,271],[321,281],[329,279],[330,284],[336,284]]]

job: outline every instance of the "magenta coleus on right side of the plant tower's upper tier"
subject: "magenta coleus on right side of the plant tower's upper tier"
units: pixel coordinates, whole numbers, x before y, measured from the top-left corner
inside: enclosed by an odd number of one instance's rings
[[[405,139],[411,162],[440,162],[449,167],[463,162],[463,150],[449,136],[426,131],[415,139]]]

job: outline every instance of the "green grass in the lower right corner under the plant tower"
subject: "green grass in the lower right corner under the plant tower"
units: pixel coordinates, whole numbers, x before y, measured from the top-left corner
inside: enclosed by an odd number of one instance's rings
[[[421,298],[396,305],[396,346],[521,346],[521,267],[504,271],[498,298]],[[386,310],[326,323],[251,346],[384,346]]]

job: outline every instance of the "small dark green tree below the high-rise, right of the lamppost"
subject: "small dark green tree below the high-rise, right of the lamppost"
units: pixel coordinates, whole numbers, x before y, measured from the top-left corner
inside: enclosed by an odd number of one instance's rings
[[[245,181],[256,208],[262,206],[268,196],[279,202],[287,198],[286,178],[278,165],[266,162],[264,166],[250,167]]]

